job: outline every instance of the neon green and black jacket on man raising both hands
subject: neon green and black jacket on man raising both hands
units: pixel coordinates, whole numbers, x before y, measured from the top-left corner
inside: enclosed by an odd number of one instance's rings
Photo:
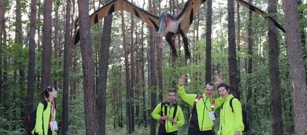
[[[194,105],[196,94],[187,94],[185,93],[184,86],[178,87],[178,93],[180,98],[188,103],[189,105]],[[213,112],[223,104],[224,100],[222,97],[219,97],[215,100]],[[205,107],[206,104],[206,107]],[[192,109],[190,116],[190,124],[188,128],[197,129],[199,131],[211,130],[213,126],[213,121],[210,120],[209,113],[212,111],[212,100],[207,97],[206,94],[203,94],[203,98],[195,104]]]

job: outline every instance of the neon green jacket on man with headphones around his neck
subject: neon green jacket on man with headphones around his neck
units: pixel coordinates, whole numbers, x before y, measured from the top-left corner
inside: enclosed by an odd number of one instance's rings
[[[173,118],[175,106],[172,106],[172,108],[170,108],[169,105],[166,105],[166,106],[167,106],[167,113],[166,113],[167,116],[169,118]],[[160,116],[161,116],[160,112],[161,112],[161,103],[159,103],[157,105],[157,107],[153,110],[153,112],[151,113],[151,116],[156,120],[161,120],[160,119]],[[164,107],[162,108],[162,112],[163,112],[163,116],[165,116],[164,115],[165,114],[164,113]],[[177,105],[176,116],[173,119],[177,120],[177,124],[175,124],[175,123],[173,124],[173,123],[169,122],[169,120],[167,119],[167,120],[165,120],[165,123],[162,125],[161,124],[162,122],[160,121],[159,130],[164,130],[164,126],[165,126],[166,133],[171,133],[171,132],[177,131],[178,126],[182,126],[182,125],[185,124],[185,118],[183,117],[183,112],[182,112],[179,105]]]

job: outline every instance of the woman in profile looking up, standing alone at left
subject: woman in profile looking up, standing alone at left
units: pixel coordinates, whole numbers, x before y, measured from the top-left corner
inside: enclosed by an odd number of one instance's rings
[[[56,90],[47,86],[44,91],[40,93],[45,100],[41,101],[37,106],[36,124],[32,131],[33,135],[56,135],[55,131],[51,130],[50,122],[55,121],[56,110],[54,109],[53,98],[57,97]],[[47,108],[44,111],[44,104],[47,102]],[[54,123],[54,122],[52,122]]]

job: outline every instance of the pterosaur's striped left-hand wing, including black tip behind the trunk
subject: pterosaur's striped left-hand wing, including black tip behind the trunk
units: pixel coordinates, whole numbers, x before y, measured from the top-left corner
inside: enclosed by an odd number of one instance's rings
[[[113,12],[117,11],[127,11],[131,14],[134,14],[142,21],[144,21],[148,26],[155,29],[156,31],[159,30],[159,17],[153,14],[150,14],[146,10],[134,5],[133,3],[127,0],[112,0],[105,4],[104,6],[97,9],[93,14],[90,15],[90,27],[94,26],[97,22],[99,22],[102,18],[112,14]],[[80,40],[80,33],[79,30],[76,33],[75,37],[75,45]]]

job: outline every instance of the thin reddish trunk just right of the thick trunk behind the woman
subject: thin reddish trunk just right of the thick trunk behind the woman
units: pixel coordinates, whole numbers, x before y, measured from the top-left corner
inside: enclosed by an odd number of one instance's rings
[[[56,11],[55,11],[55,21],[54,21],[54,66],[58,66],[58,46],[59,46],[59,4],[56,3]],[[57,89],[57,73],[54,74],[56,77],[53,79],[53,87]]]

